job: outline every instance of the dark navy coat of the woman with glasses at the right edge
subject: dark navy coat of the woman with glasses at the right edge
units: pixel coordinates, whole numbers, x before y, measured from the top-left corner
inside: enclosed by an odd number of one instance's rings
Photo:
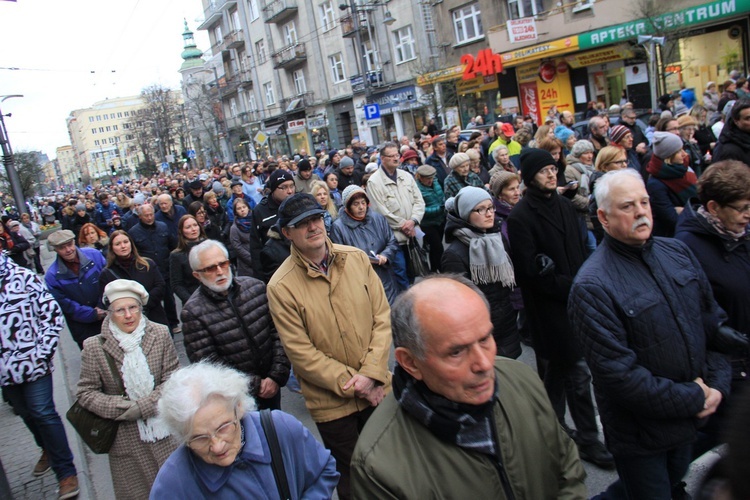
[[[696,215],[692,205],[685,205],[677,221],[675,238],[685,242],[701,263],[714,298],[726,311],[727,324],[750,334],[750,233],[733,240],[719,234],[706,219]],[[748,380],[750,356],[732,358],[735,380]]]

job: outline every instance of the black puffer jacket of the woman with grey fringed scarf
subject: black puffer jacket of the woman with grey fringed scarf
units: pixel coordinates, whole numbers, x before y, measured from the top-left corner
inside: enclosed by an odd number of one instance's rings
[[[457,239],[453,232],[468,228],[474,230],[466,222],[448,213],[448,221],[445,225],[445,241],[448,248],[443,253],[442,271],[446,273],[458,273],[471,279],[471,268],[469,267],[469,246]],[[500,224],[488,232],[499,232]],[[503,237],[505,250],[509,252],[508,240]],[[510,254],[508,255],[510,257]],[[518,336],[516,325],[517,313],[513,310],[510,301],[511,288],[503,286],[502,283],[488,283],[477,286],[487,297],[490,303],[490,319],[492,320],[493,332],[497,344],[497,355],[507,358],[518,358],[521,355],[521,339]]]

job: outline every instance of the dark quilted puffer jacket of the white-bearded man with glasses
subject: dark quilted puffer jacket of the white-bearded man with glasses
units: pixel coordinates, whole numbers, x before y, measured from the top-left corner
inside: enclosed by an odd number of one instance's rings
[[[182,308],[185,351],[192,363],[211,358],[253,376],[252,394],[260,380],[283,386],[289,359],[273,325],[266,285],[255,278],[235,278],[228,295],[201,285]]]

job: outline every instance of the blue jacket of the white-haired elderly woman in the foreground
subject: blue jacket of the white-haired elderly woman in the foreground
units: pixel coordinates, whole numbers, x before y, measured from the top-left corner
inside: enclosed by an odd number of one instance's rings
[[[331,498],[339,478],[331,452],[293,416],[281,411],[271,414],[292,498]],[[246,414],[242,426],[245,446],[239,460],[229,467],[207,464],[182,445],[162,465],[149,498],[278,499],[260,414]]]

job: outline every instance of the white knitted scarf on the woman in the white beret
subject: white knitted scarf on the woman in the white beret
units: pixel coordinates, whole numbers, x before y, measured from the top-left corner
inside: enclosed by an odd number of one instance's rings
[[[146,335],[146,318],[141,316],[141,322],[133,333],[123,332],[114,322],[109,323],[109,329],[125,353],[122,360],[122,382],[125,392],[131,401],[145,398],[154,391],[154,375],[141,349],[141,340]],[[153,443],[169,436],[166,425],[156,418],[138,419],[136,422],[141,441],[145,443]]]

